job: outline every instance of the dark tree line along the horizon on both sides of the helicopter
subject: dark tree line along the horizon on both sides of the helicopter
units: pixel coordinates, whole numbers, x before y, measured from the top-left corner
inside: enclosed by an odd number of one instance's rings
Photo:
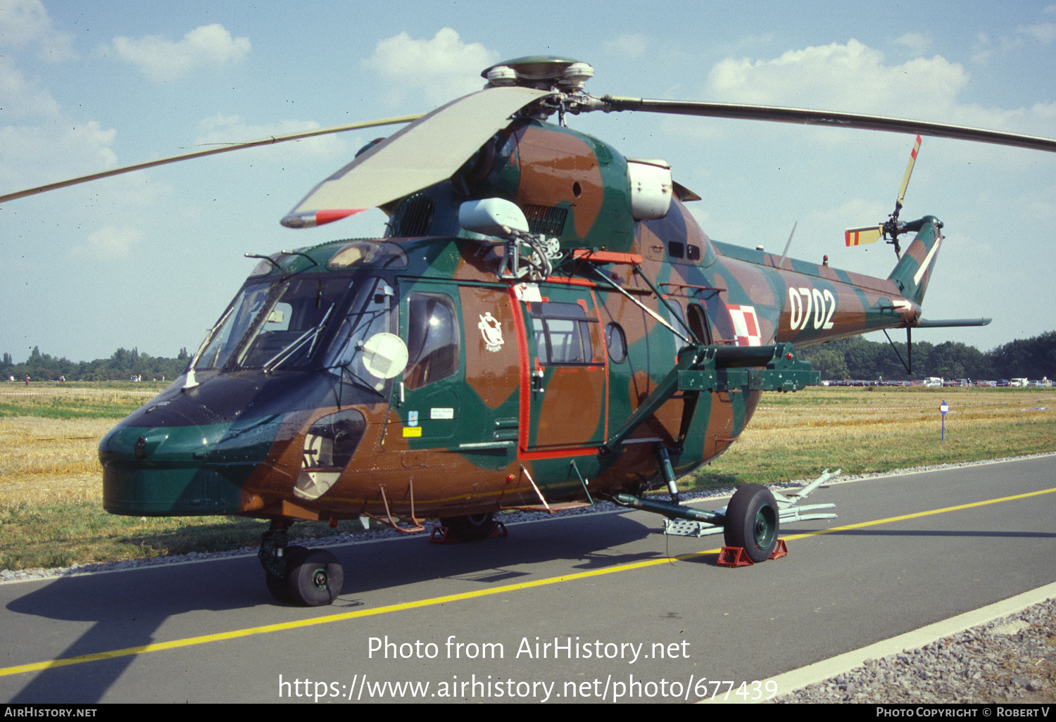
[[[892,337],[893,338],[893,337]],[[946,341],[912,344],[912,374],[906,372],[906,345],[897,343],[898,352],[887,342],[867,341],[862,337],[840,339],[806,346],[800,358],[810,361],[823,379],[862,379],[888,381],[938,376],[944,379],[998,380],[1013,378],[1056,378],[1056,330],[1032,339],[1011,341],[986,353],[975,346]],[[899,356],[901,355],[901,360]],[[30,358],[15,363],[11,354],[0,362],[0,379],[15,377],[22,381],[115,381],[132,377],[174,379],[184,373],[190,355],[181,348],[174,359],[140,354],[137,348],[118,348],[109,359],[70,361],[41,354],[34,347]]]

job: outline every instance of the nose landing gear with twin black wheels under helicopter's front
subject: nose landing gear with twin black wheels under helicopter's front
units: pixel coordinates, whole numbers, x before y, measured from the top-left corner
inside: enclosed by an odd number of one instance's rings
[[[328,551],[286,546],[290,522],[275,520],[263,535],[257,556],[271,596],[287,604],[320,607],[341,593],[344,571]]]

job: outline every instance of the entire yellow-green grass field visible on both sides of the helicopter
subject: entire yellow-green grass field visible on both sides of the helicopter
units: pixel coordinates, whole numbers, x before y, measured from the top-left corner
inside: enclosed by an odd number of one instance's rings
[[[0,569],[256,547],[266,524],[136,518],[101,508],[96,448],[164,384],[0,386]],[[941,401],[950,406],[940,440]],[[1056,451],[1056,388],[809,388],[767,394],[740,440],[690,489]],[[361,528],[342,522],[338,531]],[[298,524],[291,537],[334,533]]]

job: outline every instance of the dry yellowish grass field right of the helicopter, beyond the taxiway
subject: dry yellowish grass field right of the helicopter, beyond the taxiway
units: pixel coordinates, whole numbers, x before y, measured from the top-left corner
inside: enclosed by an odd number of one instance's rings
[[[768,483],[1046,451],[1056,451],[1056,388],[809,388],[765,396],[740,440],[693,479]]]

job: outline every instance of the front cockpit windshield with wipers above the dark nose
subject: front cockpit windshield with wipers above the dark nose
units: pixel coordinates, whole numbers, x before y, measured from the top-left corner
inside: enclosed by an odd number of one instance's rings
[[[298,276],[246,285],[194,364],[205,368],[304,366],[351,284],[346,276]]]

